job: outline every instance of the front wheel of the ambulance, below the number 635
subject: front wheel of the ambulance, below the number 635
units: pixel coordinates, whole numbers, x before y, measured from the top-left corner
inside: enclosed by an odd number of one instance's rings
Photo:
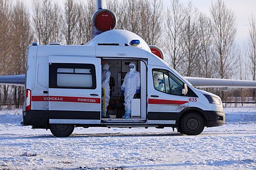
[[[204,129],[204,119],[197,113],[188,113],[181,118],[180,128],[186,135],[199,135]]]

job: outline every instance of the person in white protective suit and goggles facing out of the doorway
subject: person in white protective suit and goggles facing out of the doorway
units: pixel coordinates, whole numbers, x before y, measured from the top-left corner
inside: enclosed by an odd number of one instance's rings
[[[131,119],[131,101],[135,94],[139,93],[140,76],[136,71],[135,63],[129,64],[130,71],[126,73],[123,84],[121,85],[121,94],[124,92],[124,110],[123,119]]]

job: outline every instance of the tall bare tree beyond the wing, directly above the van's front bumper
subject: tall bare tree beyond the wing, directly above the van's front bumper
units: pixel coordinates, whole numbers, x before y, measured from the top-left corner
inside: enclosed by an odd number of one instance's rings
[[[232,65],[230,52],[233,50],[236,35],[236,17],[232,10],[227,9],[222,0],[212,3],[210,13],[213,26],[213,43],[219,60],[220,78],[229,78]]]

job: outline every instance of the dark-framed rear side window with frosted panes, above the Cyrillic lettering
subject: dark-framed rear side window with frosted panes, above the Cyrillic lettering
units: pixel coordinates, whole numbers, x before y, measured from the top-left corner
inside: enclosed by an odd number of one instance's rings
[[[95,66],[92,64],[49,64],[50,88],[96,88]]]

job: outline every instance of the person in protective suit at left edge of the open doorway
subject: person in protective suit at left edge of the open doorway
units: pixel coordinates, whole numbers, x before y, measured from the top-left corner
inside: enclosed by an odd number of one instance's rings
[[[109,89],[109,80],[110,80],[110,71],[109,69],[109,65],[107,63],[103,64],[102,66],[102,73],[101,73],[101,87],[103,87],[105,89],[105,102],[106,102],[106,107],[104,107],[104,90],[102,89],[102,96],[101,96],[101,118],[104,118],[104,111],[106,111],[107,113],[107,106],[109,103],[109,99],[110,99],[110,89]],[[106,115],[105,118],[110,118],[109,116]]]

